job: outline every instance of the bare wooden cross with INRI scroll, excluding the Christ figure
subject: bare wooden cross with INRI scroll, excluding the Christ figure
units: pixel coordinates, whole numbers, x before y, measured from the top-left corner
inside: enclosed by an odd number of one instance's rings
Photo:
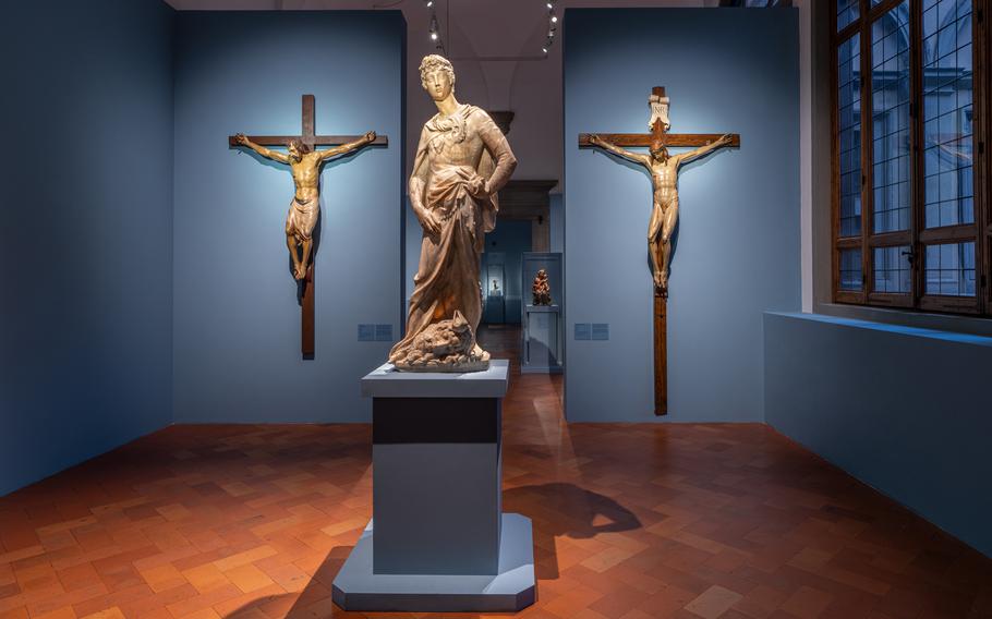
[[[664,86],[651,89],[652,98],[665,98]],[[666,112],[667,113],[667,112]],[[654,118],[654,117],[652,117]],[[616,146],[673,146],[699,147],[712,144],[722,137],[717,133],[681,133],[672,134],[665,129],[661,119],[651,125],[651,133],[580,133],[579,146],[595,146],[589,141],[590,135]],[[728,146],[740,147],[740,135],[731,134]],[[668,413],[668,293],[657,287],[654,289],[654,414]]]

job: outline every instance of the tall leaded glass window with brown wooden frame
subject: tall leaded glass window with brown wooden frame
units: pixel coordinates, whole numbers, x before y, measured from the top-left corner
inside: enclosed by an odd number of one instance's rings
[[[834,0],[835,301],[992,315],[990,7]]]

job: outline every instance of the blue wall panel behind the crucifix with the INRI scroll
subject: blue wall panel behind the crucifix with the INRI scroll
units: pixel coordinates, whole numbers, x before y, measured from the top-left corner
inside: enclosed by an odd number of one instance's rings
[[[673,133],[742,142],[679,177],[666,418],[761,421],[762,312],[800,303],[797,12],[568,10],[564,28],[568,420],[655,418],[650,178],[577,136],[645,133],[665,86]],[[610,340],[574,341],[576,323]]]

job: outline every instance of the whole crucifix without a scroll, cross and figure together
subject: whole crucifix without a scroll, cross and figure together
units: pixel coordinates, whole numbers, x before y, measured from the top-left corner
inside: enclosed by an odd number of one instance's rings
[[[337,155],[351,153],[370,144],[386,146],[385,135],[370,131],[365,135],[315,135],[314,96],[303,95],[303,132],[301,135],[231,135],[228,146],[246,146],[263,157],[286,163],[292,169],[295,194],[286,219],[286,244],[293,263],[293,277],[300,282],[302,307],[301,352],[303,359],[313,359],[314,347],[314,265],[313,230],[320,209],[320,167]],[[266,146],[285,146],[280,153]],[[316,146],[334,146],[314,150]],[[299,253],[298,253],[299,248]]]

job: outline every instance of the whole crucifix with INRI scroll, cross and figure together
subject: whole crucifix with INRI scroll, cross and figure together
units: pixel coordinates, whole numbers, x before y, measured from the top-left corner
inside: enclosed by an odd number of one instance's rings
[[[579,146],[597,146],[618,157],[641,163],[651,172],[654,207],[648,228],[648,247],[654,270],[654,414],[668,412],[668,263],[672,234],[678,221],[678,169],[682,163],[704,157],[723,146],[740,147],[736,134],[669,134],[668,97],[665,88],[655,86],[648,99],[651,133],[579,134]],[[633,153],[624,146],[648,146],[649,154]],[[688,153],[669,155],[669,146],[695,147]]]

